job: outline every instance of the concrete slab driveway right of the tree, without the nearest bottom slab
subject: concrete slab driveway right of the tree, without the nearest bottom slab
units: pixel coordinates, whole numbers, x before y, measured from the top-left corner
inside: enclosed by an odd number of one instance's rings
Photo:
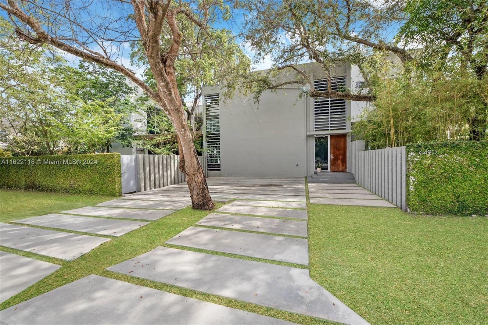
[[[252,201],[226,204],[166,241],[170,247],[157,247],[107,269],[325,320],[367,324],[308,275],[302,179],[209,178],[207,182],[212,198]],[[188,189],[177,184],[140,195],[180,197],[188,195]]]

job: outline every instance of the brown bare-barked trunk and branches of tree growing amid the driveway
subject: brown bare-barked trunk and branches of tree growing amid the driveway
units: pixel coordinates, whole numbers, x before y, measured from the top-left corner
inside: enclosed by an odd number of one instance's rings
[[[70,1],[67,1],[67,3],[70,3]],[[16,35],[21,40],[32,44],[51,44],[62,51],[83,58],[84,60],[105,65],[134,81],[151,99],[157,102],[176,129],[178,143],[181,148],[180,157],[183,159],[180,168],[182,168],[182,171],[186,176],[193,208],[205,210],[213,209],[214,204],[208,193],[205,175],[203,174],[202,166],[198,161],[193,138],[190,134],[188,124],[186,123],[183,104],[178,92],[178,82],[176,80],[174,66],[180,51],[182,40],[182,35],[178,29],[176,21],[176,15],[183,14],[187,16],[189,20],[203,29],[206,28],[206,21],[204,23],[199,22],[182,7],[175,7],[170,10],[171,0],[131,0],[131,3],[134,7],[134,19],[141,34],[144,52],[157,83],[157,90],[153,90],[134,75],[134,73],[119,63],[112,61],[109,57],[104,57],[98,52],[86,50],[86,47],[84,46],[82,46],[82,48],[74,47],[64,42],[62,39],[49,35],[34,16],[25,13],[15,0],[9,0],[8,5],[0,2],[0,8],[8,12],[10,15],[17,17],[24,24],[28,25],[36,34],[34,36],[31,31],[15,28]],[[167,53],[162,52],[160,43],[164,23],[168,23],[173,37],[171,47]],[[80,44],[79,41],[78,43]],[[90,149],[92,149],[91,146]]]

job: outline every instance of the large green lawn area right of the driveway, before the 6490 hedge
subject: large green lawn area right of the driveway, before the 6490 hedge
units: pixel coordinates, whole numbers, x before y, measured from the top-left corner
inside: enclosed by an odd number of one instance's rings
[[[371,324],[487,324],[488,218],[308,205],[310,275]]]

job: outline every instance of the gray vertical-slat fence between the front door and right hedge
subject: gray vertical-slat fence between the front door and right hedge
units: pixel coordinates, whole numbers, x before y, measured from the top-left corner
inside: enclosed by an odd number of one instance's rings
[[[353,141],[347,158],[347,171],[359,185],[408,211],[405,147],[365,150],[363,141]]]

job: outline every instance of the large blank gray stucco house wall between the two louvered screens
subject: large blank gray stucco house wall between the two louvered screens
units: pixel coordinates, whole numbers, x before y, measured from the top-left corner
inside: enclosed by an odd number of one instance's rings
[[[298,95],[298,89],[283,89],[265,91],[259,103],[252,98],[221,101],[221,172],[212,174],[304,177],[306,101],[297,101]]]

